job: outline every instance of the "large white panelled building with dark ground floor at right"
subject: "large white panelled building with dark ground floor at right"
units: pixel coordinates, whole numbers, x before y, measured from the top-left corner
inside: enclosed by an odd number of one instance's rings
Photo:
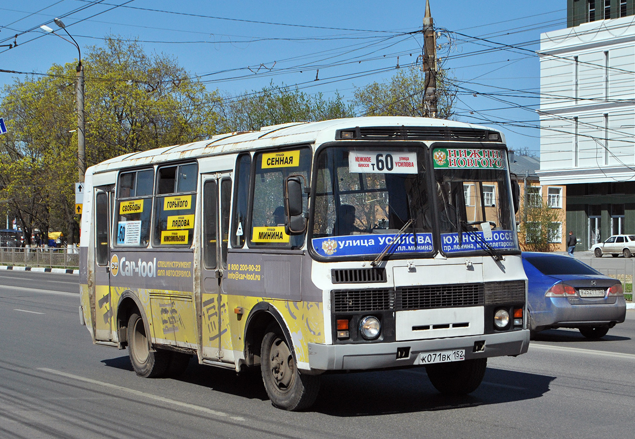
[[[632,3],[568,0],[568,23],[587,22],[540,37],[538,176],[543,187],[566,185],[566,228],[578,249],[635,233]]]

